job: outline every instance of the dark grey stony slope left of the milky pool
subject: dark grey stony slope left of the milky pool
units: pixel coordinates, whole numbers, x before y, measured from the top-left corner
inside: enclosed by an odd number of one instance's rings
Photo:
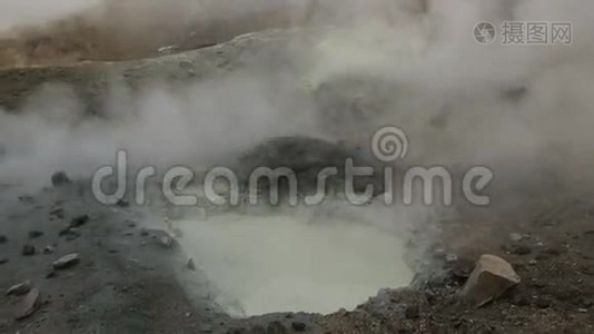
[[[1,286],[29,279],[40,291],[39,310],[20,322],[21,297],[2,294],[3,333],[160,333],[172,324],[190,333],[219,317],[198,312],[172,279],[175,248],[142,230],[131,212],[100,207],[85,191],[72,184],[18,198],[3,187]],[[88,222],[68,228],[81,216]],[[34,253],[24,256],[26,245]],[[80,262],[53,269],[68,254]]]

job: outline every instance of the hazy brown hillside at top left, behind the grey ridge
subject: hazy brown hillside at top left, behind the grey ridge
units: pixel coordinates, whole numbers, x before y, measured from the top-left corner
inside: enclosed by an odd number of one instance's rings
[[[10,29],[0,29],[0,68],[157,57],[290,27],[304,16],[303,6],[269,1],[239,10],[237,3],[217,2],[106,0],[81,3],[73,14],[41,24],[9,21]]]

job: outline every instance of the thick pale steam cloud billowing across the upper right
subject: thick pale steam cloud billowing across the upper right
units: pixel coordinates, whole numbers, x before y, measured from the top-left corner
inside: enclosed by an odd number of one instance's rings
[[[585,163],[591,131],[592,31],[587,1],[433,1],[430,12],[387,30],[376,23],[330,33],[317,49],[314,82],[350,73],[394,86],[385,117],[417,143],[417,158],[430,161],[508,161],[553,156],[552,146],[581,151],[565,164]],[[584,11],[586,10],[586,11]],[[472,39],[474,26],[504,20],[571,21],[572,46],[492,46]],[[388,32],[389,31],[389,32]],[[499,29],[501,32],[501,29]],[[316,84],[316,85],[317,85]],[[519,100],[505,92],[525,89]],[[562,111],[563,110],[563,111]],[[445,131],[427,126],[444,116]],[[419,147],[422,146],[422,148]],[[414,150],[414,149],[413,149]],[[567,151],[565,151],[567,153]],[[413,153],[415,154],[415,153]]]

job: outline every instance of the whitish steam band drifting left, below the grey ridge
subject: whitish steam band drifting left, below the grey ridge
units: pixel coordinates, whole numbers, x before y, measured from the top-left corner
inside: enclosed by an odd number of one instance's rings
[[[320,135],[311,105],[296,101],[296,95],[281,80],[235,73],[177,91],[120,91],[111,100],[111,119],[105,120],[83,116],[69,88],[50,86],[32,100],[39,105],[0,116],[0,179],[41,187],[56,170],[90,177],[113,165],[120,149],[135,165],[200,169],[228,163],[229,156],[270,137]]]

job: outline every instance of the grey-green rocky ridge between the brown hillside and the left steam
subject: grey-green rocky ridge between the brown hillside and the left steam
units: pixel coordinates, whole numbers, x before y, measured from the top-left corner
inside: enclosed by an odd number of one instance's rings
[[[7,110],[26,107],[32,95],[43,87],[66,86],[85,104],[90,115],[99,115],[112,88],[123,86],[132,91],[151,85],[188,85],[222,72],[266,63],[269,71],[296,67],[291,49],[308,46],[303,30],[268,31],[257,37],[246,35],[227,43],[139,61],[89,62],[58,67],[10,68],[0,70],[0,107]],[[310,42],[309,42],[310,43]],[[42,97],[41,97],[42,99]],[[34,101],[33,101],[34,102]]]

